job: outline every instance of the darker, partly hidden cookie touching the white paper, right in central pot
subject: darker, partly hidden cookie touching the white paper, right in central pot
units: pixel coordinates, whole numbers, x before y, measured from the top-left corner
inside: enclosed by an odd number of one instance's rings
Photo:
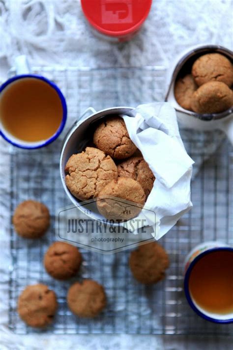
[[[146,198],[148,197],[153,188],[155,177],[143,157],[130,157],[118,164],[117,170],[119,177],[138,181],[144,189]]]

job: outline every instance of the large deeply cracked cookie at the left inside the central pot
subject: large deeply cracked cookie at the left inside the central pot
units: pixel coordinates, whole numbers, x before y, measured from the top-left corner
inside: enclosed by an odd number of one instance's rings
[[[104,152],[87,147],[85,152],[70,157],[65,166],[65,183],[80,200],[97,197],[111,180],[117,179],[117,165]]]

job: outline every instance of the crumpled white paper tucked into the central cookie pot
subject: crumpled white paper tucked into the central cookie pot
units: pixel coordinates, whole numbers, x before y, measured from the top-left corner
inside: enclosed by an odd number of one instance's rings
[[[192,164],[180,138],[175,109],[168,102],[139,105],[135,118],[122,115],[129,136],[156,180],[145,209],[138,216],[154,229],[155,239],[167,233],[191,207]],[[152,211],[156,214],[156,221]]]

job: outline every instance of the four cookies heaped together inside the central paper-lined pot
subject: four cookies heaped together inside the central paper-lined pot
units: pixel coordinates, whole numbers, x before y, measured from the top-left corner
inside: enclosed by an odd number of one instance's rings
[[[120,116],[101,120],[93,131],[91,146],[68,159],[68,190],[82,201],[96,198],[99,213],[108,220],[135,218],[155,177],[130,139],[124,120]]]

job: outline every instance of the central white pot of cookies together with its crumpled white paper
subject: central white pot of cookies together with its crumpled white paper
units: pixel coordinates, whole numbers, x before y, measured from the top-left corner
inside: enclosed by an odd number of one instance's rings
[[[169,103],[89,108],[65,137],[60,177],[74,215],[159,239],[192,207],[192,164]]]

